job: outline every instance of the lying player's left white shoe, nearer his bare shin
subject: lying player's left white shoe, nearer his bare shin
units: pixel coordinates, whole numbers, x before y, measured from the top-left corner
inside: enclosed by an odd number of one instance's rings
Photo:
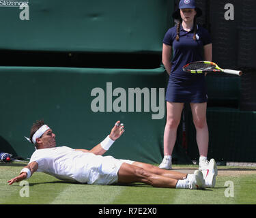
[[[200,170],[195,170],[194,174],[190,174],[190,176],[186,178],[186,188],[205,189],[205,181]]]

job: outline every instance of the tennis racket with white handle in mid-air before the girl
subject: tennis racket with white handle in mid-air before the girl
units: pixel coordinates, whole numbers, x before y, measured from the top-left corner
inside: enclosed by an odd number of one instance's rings
[[[241,76],[242,71],[240,70],[233,70],[233,69],[222,69],[218,67],[216,63],[211,61],[195,61],[192,63],[188,63],[183,68],[184,72],[188,72],[191,74],[203,74],[203,73],[210,73],[210,72],[222,72],[226,74],[234,74]]]

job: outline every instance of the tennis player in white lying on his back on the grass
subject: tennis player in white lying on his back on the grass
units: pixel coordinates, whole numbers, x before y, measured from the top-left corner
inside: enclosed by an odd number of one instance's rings
[[[91,150],[71,149],[67,146],[56,147],[55,134],[37,121],[31,127],[30,142],[35,145],[35,152],[29,164],[21,170],[19,176],[8,183],[18,183],[29,178],[33,172],[45,172],[66,181],[76,181],[93,185],[111,185],[114,183],[146,183],[153,187],[204,189],[203,173],[195,170],[194,174],[184,174],[173,170],[162,170],[148,163],[115,159],[102,156],[110,146],[124,133],[124,125],[115,123],[111,133]],[[207,175],[211,187],[215,183],[214,170]]]

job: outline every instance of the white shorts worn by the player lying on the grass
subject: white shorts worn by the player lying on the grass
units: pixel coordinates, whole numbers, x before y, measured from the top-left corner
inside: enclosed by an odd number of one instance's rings
[[[100,166],[91,168],[87,184],[91,185],[111,185],[117,183],[117,173],[123,163],[132,164],[134,161],[128,159],[115,159],[112,156],[104,156],[100,161]]]

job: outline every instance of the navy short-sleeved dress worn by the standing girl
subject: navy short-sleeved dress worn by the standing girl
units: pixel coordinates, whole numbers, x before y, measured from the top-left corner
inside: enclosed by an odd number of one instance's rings
[[[165,34],[163,43],[173,48],[171,75],[165,95],[167,102],[207,102],[207,87],[204,74],[189,74],[182,67],[193,61],[204,61],[203,46],[211,44],[210,34],[197,25],[197,40],[193,40],[193,30],[185,31],[180,25],[180,41],[177,41],[176,27]]]

